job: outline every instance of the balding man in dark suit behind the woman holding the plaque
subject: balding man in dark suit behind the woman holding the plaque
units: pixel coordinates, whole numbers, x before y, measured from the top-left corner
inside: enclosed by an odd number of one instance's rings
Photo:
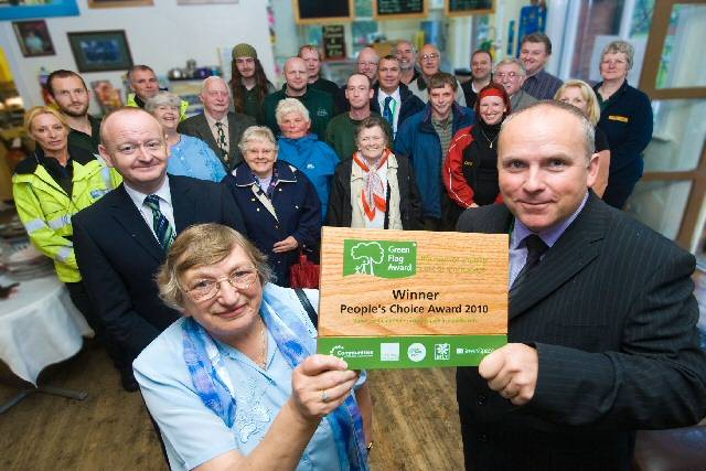
[[[167,175],[168,149],[157,119],[140,108],[109,114],[98,150],[124,184],[72,218],[74,249],[96,313],[116,345],[126,390],[137,390],[132,360],[179,318],[153,280],[184,228],[222,223],[243,234],[235,201],[224,186]]]

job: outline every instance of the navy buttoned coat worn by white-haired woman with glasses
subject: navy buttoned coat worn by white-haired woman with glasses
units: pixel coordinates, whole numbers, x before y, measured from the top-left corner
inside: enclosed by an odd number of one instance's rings
[[[223,179],[237,203],[250,240],[267,255],[279,286],[289,287],[289,267],[299,260],[299,248],[281,254],[272,251],[276,242],[293,236],[299,247],[319,251],[321,203],[309,179],[286,162],[275,162],[279,181],[272,192],[275,217],[253,192],[259,189],[247,163],[243,162]]]

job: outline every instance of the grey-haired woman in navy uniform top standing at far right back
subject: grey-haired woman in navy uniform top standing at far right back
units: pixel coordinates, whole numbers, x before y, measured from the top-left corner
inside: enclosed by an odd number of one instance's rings
[[[622,208],[642,176],[642,151],[652,139],[650,98],[628,85],[634,50],[625,41],[613,41],[603,49],[600,75],[593,87],[600,106],[598,128],[608,137],[610,171],[603,201]]]

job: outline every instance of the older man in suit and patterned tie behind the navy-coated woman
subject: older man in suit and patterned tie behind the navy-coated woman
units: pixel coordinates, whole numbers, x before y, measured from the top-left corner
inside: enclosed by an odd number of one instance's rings
[[[238,142],[243,132],[256,125],[255,118],[228,111],[231,90],[221,77],[203,81],[201,101],[203,113],[180,122],[178,131],[206,142],[229,172],[243,161]]]

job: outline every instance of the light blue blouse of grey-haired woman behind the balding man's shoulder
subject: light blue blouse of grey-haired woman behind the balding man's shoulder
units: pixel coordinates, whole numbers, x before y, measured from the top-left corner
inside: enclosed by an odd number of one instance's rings
[[[181,140],[171,147],[167,172],[194,179],[220,182],[225,176],[223,163],[207,143],[192,136],[181,135]]]

